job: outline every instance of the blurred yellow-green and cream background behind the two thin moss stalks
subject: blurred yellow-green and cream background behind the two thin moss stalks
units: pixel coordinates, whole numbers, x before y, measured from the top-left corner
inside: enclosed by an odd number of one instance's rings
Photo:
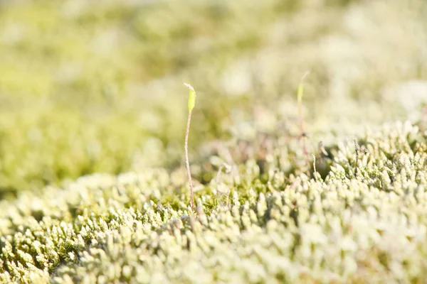
[[[425,0],[0,1],[0,195],[184,163],[207,141],[421,119]],[[185,176],[184,176],[185,178]]]

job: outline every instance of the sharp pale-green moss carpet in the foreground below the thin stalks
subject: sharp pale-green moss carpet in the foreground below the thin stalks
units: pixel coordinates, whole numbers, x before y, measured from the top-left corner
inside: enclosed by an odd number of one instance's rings
[[[325,181],[290,176],[283,189],[266,186],[256,165],[245,163],[238,175],[257,173],[251,181],[230,185],[226,205],[214,192],[236,173],[223,173],[220,183],[196,191],[196,215],[162,169],[91,175],[63,189],[23,193],[1,204],[1,279],[421,281],[427,153],[405,149],[426,138],[411,124],[371,135],[364,146],[377,150],[361,158],[357,178],[346,175],[354,166],[339,158],[349,152],[342,146]],[[268,155],[278,155],[274,141]],[[399,158],[389,160],[379,146]],[[389,172],[392,180],[384,178]]]

